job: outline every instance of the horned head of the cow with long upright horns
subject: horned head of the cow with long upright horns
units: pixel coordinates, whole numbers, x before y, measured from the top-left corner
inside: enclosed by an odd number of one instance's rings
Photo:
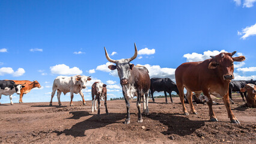
[[[118,72],[118,76],[120,78],[120,83],[122,85],[126,85],[128,83],[128,79],[130,78],[130,70],[132,70],[133,68],[133,64],[130,64],[130,61],[132,61],[133,59],[135,59],[137,57],[137,47],[136,44],[134,44],[135,46],[135,54],[132,56],[132,58],[127,58],[127,59],[120,59],[120,60],[113,60],[111,58],[109,58],[108,56],[108,52],[105,49],[105,55],[106,55],[106,59],[108,59],[109,62],[113,62],[116,65],[109,65],[108,68],[110,70],[115,70],[117,69]]]

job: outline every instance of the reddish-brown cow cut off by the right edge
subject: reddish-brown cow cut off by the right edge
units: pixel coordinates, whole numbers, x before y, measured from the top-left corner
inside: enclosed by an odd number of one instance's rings
[[[256,107],[256,86],[254,84],[248,83],[245,85],[245,88],[240,89],[241,92],[246,92],[248,95],[245,97],[246,98],[246,105],[248,107]]]

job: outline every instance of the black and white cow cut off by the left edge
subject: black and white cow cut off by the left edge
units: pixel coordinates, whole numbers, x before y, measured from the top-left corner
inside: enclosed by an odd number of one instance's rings
[[[20,89],[24,88],[25,84],[16,84],[13,80],[0,80],[0,99],[2,95],[10,95],[11,105],[13,105],[13,94],[20,94]]]

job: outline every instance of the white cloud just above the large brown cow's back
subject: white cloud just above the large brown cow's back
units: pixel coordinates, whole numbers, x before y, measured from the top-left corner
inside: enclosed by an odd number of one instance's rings
[[[210,59],[210,56],[216,56],[222,52],[226,52],[226,51],[221,50],[221,52],[219,52],[218,50],[213,50],[213,51],[208,50],[204,52],[203,55],[200,53],[191,53],[191,54],[187,53],[183,55],[183,57],[187,59],[187,62],[204,61],[206,59]]]

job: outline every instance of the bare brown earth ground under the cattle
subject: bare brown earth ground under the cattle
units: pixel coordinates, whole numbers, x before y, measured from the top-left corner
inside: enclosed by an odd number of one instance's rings
[[[234,115],[239,124],[231,124],[221,99],[213,110],[219,122],[209,122],[207,105],[197,104],[198,115],[184,116],[178,97],[165,104],[165,98],[150,100],[150,115],[138,123],[136,100],[131,101],[131,123],[126,118],[124,100],[108,101],[109,115],[102,106],[101,115],[91,113],[91,101],[74,107],[69,102],[15,103],[0,105],[0,143],[256,143],[256,109],[243,107],[241,97],[233,97]],[[186,104],[189,109],[189,105]],[[144,126],[145,128],[142,128]]]

